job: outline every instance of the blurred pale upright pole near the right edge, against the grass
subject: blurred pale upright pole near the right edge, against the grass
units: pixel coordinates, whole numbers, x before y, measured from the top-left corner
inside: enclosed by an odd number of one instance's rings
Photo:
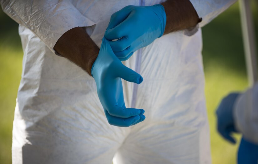
[[[257,82],[256,44],[250,0],[240,0],[240,17],[249,85]]]

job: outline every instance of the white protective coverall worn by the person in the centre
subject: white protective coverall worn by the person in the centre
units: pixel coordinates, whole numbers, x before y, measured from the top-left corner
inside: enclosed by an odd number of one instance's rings
[[[210,22],[236,0],[190,0]],[[53,47],[73,27],[85,27],[100,47],[110,16],[127,5],[161,0],[1,0],[20,24],[23,72],[13,122],[17,163],[209,164],[202,35],[184,30],[157,38],[123,62],[144,78],[123,81],[127,107],[146,119],[128,128],[109,125],[93,77]]]

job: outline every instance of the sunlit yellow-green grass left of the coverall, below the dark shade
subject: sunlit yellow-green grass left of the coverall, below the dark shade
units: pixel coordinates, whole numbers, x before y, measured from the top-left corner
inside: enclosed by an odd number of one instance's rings
[[[0,47],[0,163],[11,163],[15,99],[22,73],[22,51]]]

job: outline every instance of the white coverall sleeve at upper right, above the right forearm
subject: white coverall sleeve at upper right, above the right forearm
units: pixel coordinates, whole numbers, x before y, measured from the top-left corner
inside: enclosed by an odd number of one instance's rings
[[[190,0],[190,2],[198,16],[202,18],[199,27],[203,27],[234,4],[236,0]]]

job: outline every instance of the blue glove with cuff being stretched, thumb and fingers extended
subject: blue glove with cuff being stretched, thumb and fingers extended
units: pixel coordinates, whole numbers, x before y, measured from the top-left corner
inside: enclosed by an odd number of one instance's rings
[[[96,82],[99,100],[109,124],[129,127],[145,119],[143,109],[125,107],[121,81],[123,78],[126,81],[140,84],[143,78],[122,64],[105,37],[102,39],[99,55],[93,63],[91,74]]]

